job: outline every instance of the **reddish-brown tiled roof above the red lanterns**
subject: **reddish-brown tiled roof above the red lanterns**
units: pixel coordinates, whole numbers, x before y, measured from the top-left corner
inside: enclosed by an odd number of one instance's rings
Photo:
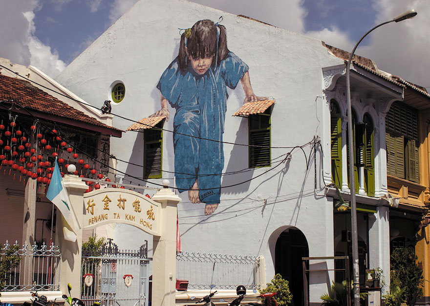
[[[42,89],[35,87],[29,81],[0,74],[0,101],[11,99],[28,110],[85,122],[115,132],[121,131],[72,108]]]

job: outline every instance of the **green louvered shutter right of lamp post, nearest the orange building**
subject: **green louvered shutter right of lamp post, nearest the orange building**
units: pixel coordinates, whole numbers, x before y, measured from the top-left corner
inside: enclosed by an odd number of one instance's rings
[[[373,125],[366,124],[364,138],[364,166],[365,166],[365,191],[367,196],[375,196],[375,158],[374,158],[374,130]]]

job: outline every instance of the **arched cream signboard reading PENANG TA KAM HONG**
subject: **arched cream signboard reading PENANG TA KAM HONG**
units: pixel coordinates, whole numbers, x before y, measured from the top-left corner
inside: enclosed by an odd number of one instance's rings
[[[159,236],[159,203],[137,192],[104,188],[84,194],[84,229],[106,223],[127,223]]]

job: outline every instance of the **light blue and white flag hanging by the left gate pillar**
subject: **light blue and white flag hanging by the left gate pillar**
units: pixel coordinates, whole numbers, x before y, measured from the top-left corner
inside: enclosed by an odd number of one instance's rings
[[[73,212],[72,205],[70,203],[69,195],[64,187],[63,179],[61,177],[60,168],[58,167],[57,158],[55,158],[54,172],[52,173],[51,182],[49,184],[48,192],[46,197],[54,203],[55,206],[60,210],[64,220],[70,226],[70,230],[64,229],[64,238],[69,241],[76,241],[76,232],[80,228],[79,222]]]

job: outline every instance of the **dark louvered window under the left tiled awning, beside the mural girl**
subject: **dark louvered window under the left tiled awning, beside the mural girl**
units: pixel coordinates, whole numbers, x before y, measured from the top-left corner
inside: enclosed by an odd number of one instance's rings
[[[144,131],[144,168],[143,174],[147,178],[162,177],[163,131],[162,122],[154,128]]]

